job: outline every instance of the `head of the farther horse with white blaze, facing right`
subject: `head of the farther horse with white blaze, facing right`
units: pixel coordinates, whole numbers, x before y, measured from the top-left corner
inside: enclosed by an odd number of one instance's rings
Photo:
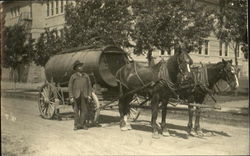
[[[219,72],[221,78],[227,82],[232,90],[239,87],[236,67],[232,65],[232,60],[225,61],[222,59],[222,68]]]

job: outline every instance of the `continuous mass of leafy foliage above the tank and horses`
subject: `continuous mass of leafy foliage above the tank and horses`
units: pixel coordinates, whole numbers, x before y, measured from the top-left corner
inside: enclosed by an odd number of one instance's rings
[[[210,9],[199,3],[187,6],[183,0],[76,0],[65,10],[64,40],[41,36],[38,64],[61,48],[78,46],[134,47],[135,53],[146,51],[150,57],[153,49],[169,51],[185,43],[190,52],[210,35],[214,22]]]

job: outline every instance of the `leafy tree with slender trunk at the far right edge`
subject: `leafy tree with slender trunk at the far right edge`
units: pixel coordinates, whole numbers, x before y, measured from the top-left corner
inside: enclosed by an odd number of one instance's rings
[[[239,46],[247,48],[247,0],[220,0],[220,11],[217,14],[217,38],[232,43],[235,64],[238,65]],[[243,49],[244,50],[244,49]],[[248,50],[245,50],[247,53]],[[247,54],[245,54],[247,55]]]

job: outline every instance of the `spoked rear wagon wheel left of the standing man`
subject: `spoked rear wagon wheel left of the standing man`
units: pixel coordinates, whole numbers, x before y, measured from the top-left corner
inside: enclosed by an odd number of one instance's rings
[[[45,119],[52,119],[55,115],[55,95],[51,85],[42,86],[39,92],[38,108],[40,115]]]

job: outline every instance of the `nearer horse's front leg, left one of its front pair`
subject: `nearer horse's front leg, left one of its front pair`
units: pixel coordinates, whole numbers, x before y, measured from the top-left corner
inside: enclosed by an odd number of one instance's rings
[[[152,117],[151,117],[151,125],[153,128],[153,135],[152,137],[155,139],[159,139],[159,132],[158,132],[158,125],[156,123],[158,110],[159,110],[159,95],[156,94],[152,97],[151,100],[151,108],[152,108]]]

